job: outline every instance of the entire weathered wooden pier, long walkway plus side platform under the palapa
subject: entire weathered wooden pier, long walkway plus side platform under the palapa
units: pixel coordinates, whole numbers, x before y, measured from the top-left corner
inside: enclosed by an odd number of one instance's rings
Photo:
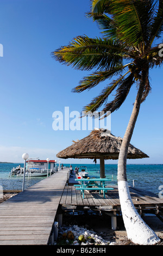
[[[76,175],[68,169],[38,182],[32,187],[0,204],[0,245],[51,245],[54,241],[55,218],[64,211],[94,210],[105,212],[114,219],[121,211],[118,189],[105,194],[80,191],[73,186]],[[109,185],[109,187],[111,187]],[[163,211],[163,199],[155,194],[130,187],[135,208],[140,212],[152,210],[155,214]],[[57,220],[58,221],[58,220]]]

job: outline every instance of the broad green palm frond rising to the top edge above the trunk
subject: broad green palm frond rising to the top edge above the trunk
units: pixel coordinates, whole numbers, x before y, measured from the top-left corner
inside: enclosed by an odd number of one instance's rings
[[[111,13],[122,41],[133,45],[145,44],[154,13],[153,0],[111,1]]]

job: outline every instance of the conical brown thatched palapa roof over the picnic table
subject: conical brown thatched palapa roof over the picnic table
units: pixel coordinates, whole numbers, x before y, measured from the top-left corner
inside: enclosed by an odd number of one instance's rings
[[[108,130],[95,129],[91,131],[90,135],[60,151],[57,157],[62,159],[100,159],[104,157],[105,160],[116,160],[120,153],[121,144],[121,137],[112,135]],[[128,159],[141,159],[145,157],[149,156],[133,145],[129,145]]]

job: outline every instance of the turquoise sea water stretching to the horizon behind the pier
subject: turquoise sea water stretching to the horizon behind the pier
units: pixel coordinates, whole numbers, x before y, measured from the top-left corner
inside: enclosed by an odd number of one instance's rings
[[[3,190],[21,190],[23,177],[10,176],[12,167],[17,167],[19,163],[0,163],[0,185]],[[65,166],[70,166],[65,164]],[[89,177],[99,178],[99,164],[72,164],[73,169],[78,166],[86,166]],[[21,164],[23,167],[23,164]],[[54,174],[55,175],[55,174]],[[106,178],[111,179],[111,184],[117,184],[117,164],[105,164]],[[45,177],[26,178],[25,187],[30,187]],[[159,186],[163,186],[163,164],[127,164],[127,178],[130,186],[142,188],[158,195]]]

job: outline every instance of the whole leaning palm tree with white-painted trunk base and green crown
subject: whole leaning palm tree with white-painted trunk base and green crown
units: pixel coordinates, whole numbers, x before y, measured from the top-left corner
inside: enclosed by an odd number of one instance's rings
[[[74,69],[96,69],[85,76],[73,92],[81,93],[111,80],[84,111],[93,112],[104,106],[103,117],[106,117],[108,111],[112,113],[121,107],[130,88],[136,84],[136,100],[118,158],[118,191],[128,238],[140,245],[152,245],[160,240],[135,210],[128,188],[126,163],[140,105],[151,91],[149,70],[162,64],[159,45],[154,43],[163,31],[163,1],[92,0],[87,16],[97,21],[102,38],[77,36],[67,46],[54,51],[53,57]],[[114,90],[114,100],[108,102]]]

